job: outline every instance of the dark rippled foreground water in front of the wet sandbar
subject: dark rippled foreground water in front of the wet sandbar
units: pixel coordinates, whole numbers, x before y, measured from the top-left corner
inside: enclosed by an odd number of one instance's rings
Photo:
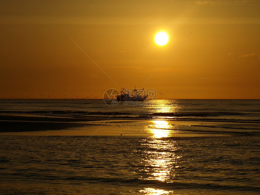
[[[259,194],[259,137],[3,136],[2,194]]]

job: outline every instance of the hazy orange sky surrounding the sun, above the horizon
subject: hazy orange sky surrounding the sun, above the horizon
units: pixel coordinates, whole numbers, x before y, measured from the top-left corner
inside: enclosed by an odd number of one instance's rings
[[[258,0],[0,5],[0,98],[102,98],[135,86],[158,99],[260,98]]]

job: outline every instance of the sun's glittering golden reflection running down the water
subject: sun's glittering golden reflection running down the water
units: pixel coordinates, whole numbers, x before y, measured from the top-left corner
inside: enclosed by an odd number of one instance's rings
[[[158,102],[159,106],[156,108],[158,113],[172,113],[177,111],[174,104],[169,105],[169,102],[161,100]],[[163,119],[163,118],[162,118]],[[153,136],[146,140],[143,147],[147,148],[144,151],[145,161],[144,171],[148,174],[146,178],[139,178],[143,180],[158,180],[161,182],[171,183],[175,177],[174,170],[180,167],[181,155],[175,153],[180,148],[176,141],[171,139],[160,139],[163,137],[171,137],[174,130],[166,120],[153,120],[154,125],[149,126],[148,132]],[[145,188],[139,192],[147,195],[166,195],[173,194],[173,191],[164,189]]]

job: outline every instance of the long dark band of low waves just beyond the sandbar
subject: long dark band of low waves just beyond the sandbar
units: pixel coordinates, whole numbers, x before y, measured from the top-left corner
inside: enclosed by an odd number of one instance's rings
[[[258,113],[248,112],[101,112],[101,111],[75,111],[75,110],[34,110],[34,111],[0,111],[0,113],[13,114],[39,114],[52,116],[91,117],[111,119],[135,120],[176,120],[176,121],[205,121],[205,122],[260,122]]]

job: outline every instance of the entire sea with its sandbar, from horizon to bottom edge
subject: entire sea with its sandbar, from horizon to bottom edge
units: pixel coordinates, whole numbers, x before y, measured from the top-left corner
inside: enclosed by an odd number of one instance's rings
[[[0,194],[260,194],[260,100],[0,99]]]

